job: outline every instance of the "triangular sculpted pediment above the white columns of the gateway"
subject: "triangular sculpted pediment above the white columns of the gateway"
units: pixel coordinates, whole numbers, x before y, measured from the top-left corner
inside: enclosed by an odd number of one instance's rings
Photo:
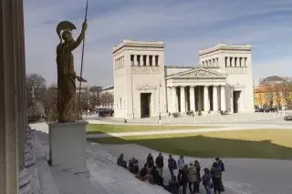
[[[200,67],[174,74],[171,77],[226,77],[226,75]]]

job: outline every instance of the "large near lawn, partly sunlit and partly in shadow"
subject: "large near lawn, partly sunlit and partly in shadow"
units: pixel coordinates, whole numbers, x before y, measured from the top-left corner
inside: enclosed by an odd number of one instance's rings
[[[201,158],[292,159],[292,130],[265,129],[193,134],[88,138],[104,144],[136,143],[166,153]]]

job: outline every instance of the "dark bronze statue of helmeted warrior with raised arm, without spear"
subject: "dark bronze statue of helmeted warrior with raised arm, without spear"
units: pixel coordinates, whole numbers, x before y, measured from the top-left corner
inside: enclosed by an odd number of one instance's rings
[[[68,21],[62,21],[57,25],[57,36],[60,38],[60,43],[57,46],[57,121],[59,123],[76,121],[73,114],[73,107],[76,103],[75,81],[76,79],[81,82],[87,81],[76,75],[72,51],[84,39],[86,29],[87,21],[85,20],[81,33],[75,41],[72,30],[76,30],[76,26]],[[62,34],[61,31],[63,31]]]

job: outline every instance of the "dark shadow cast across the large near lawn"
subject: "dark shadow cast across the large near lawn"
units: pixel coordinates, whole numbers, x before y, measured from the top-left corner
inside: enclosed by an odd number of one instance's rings
[[[129,137],[128,137],[129,138]],[[199,158],[276,158],[292,159],[292,148],[279,146],[271,140],[251,141],[229,138],[191,136],[182,138],[131,139],[108,137],[88,138],[89,142],[100,144],[139,144],[175,155]]]

